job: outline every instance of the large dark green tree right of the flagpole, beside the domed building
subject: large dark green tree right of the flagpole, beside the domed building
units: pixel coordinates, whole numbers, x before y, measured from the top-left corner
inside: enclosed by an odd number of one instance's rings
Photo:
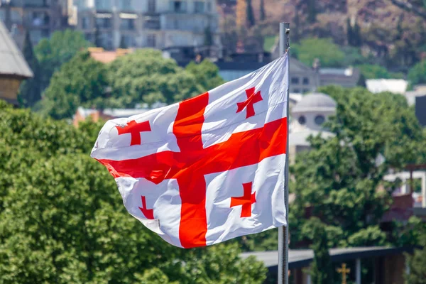
[[[324,125],[331,138],[312,137],[311,150],[298,153],[290,172],[297,194],[290,210],[293,245],[309,239],[305,212],[327,224],[331,246],[383,245],[389,240],[377,226],[391,202],[378,190],[390,168],[403,168],[418,155],[422,128],[405,97],[366,89],[327,87],[337,114]],[[383,163],[377,158],[383,156]]]

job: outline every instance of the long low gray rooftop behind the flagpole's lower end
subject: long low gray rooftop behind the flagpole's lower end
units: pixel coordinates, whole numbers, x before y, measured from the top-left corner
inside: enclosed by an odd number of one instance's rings
[[[391,248],[386,246],[371,246],[371,247],[355,247],[344,249],[330,249],[329,253],[332,256],[332,261],[341,262],[349,261],[356,258],[371,258],[378,256],[387,256],[398,254],[403,251],[410,251],[410,248]],[[268,268],[276,268],[278,266],[278,251],[254,251],[249,253],[241,253],[241,258],[255,256],[258,261],[262,261]],[[309,266],[314,258],[312,249],[290,249],[288,251],[288,267],[301,268]]]

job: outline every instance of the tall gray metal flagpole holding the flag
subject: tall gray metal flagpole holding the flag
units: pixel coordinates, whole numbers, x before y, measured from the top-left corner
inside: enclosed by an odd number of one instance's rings
[[[290,48],[290,23],[280,23],[280,55],[289,53]],[[290,58],[288,58],[290,62]],[[287,65],[287,74],[290,72],[290,63]],[[290,81],[290,80],[289,80]],[[288,96],[289,84],[287,87],[287,121],[289,115]],[[285,170],[284,170],[284,204],[285,204],[285,219],[287,226],[278,228],[278,284],[288,284],[288,124],[287,124],[287,146],[285,153]]]

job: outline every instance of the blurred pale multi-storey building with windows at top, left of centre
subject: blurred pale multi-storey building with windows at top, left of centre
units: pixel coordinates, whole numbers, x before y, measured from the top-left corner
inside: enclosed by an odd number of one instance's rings
[[[68,23],[99,47],[220,45],[216,1],[69,0]]]

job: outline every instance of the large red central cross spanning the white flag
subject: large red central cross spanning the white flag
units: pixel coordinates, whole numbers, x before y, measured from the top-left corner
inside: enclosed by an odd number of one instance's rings
[[[114,178],[146,178],[155,184],[167,179],[178,181],[182,202],[179,239],[184,248],[206,245],[204,175],[257,164],[285,153],[286,118],[268,122],[260,129],[233,133],[227,141],[203,148],[201,129],[208,103],[209,93],[180,102],[173,124],[180,152],[163,151],[131,160],[99,160]]]

